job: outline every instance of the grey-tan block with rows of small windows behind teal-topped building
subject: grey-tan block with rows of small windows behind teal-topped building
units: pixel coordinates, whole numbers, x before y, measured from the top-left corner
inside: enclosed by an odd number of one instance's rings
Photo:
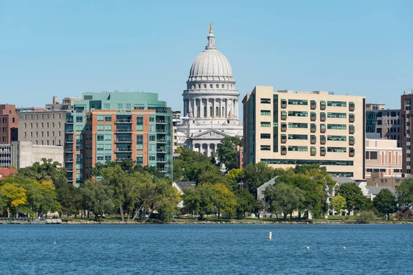
[[[19,113],[19,141],[63,146],[65,120],[66,111]]]

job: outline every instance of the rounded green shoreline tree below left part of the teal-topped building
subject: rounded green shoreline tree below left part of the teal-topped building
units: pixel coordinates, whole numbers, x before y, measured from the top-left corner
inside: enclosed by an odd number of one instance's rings
[[[94,213],[94,221],[114,209],[114,188],[105,179],[87,179],[81,186],[81,192],[87,209]]]

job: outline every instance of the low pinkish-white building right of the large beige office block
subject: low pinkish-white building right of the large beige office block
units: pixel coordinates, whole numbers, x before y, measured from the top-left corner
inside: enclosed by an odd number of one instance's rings
[[[366,140],[366,179],[401,177],[401,151],[397,140]]]

